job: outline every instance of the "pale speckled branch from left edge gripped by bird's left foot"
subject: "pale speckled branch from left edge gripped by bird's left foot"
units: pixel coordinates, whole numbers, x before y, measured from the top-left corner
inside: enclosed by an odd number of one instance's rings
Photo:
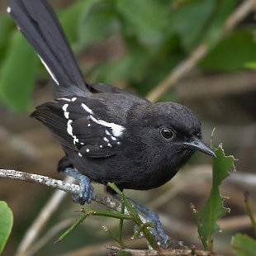
[[[33,174],[33,173],[23,173],[17,172],[15,170],[0,169],[0,178],[9,178],[25,181],[28,183],[39,183],[47,187],[57,188],[64,192],[68,192],[73,195],[78,195],[81,192],[79,185],[73,183],[65,183],[62,180],[49,178],[43,175]],[[111,198],[93,193],[92,201],[97,201],[103,206],[107,206],[115,211],[121,210],[121,204],[118,201],[113,201]]]

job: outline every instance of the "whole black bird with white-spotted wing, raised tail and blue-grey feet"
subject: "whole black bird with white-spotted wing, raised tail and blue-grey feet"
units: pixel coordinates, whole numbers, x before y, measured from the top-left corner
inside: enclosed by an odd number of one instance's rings
[[[31,116],[62,145],[65,156],[58,169],[83,187],[75,201],[92,201],[91,182],[148,190],[167,183],[196,150],[215,156],[201,141],[200,121],[187,107],[154,104],[107,84],[84,82],[55,12],[45,0],[7,3],[7,12],[57,85],[55,100],[36,107]],[[168,242],[158,217],[135,205]]]

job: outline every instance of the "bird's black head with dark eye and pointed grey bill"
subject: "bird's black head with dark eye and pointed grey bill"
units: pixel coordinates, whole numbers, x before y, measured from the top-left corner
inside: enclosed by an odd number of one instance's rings
[[[187,107],[173,102],[159,102],[150,104],[143,111],[138,109],[138,115],[140,127],[136,132],[155,155],[161,154],[167,161],[177,159],[179,166],[186,163],[195,151],[216,156],[201,141],[200,120]]]

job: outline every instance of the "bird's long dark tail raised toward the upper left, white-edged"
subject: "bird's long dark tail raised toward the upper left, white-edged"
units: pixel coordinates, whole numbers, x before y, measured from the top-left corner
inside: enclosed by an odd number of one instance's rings
[[[64,88],[87,91],[89,85],[73,56],[52,7],[45,0],[7,0],[9,12],[17,27],[33,45],[55,83]]]

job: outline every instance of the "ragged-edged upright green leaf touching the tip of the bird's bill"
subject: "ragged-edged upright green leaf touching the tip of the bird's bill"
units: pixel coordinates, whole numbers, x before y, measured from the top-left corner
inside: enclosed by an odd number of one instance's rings
[[[216,158],[213,158],[212,162],[210,197],[201,211],[196,211],[194,207],[192,209],[197,221],[199,238],[207,250],[212,249],[212,235],[220,230],[217,221],[230,211],[230,209],[223,206],[224,197],[220,195],[219,186],[229,176],[229,171],[235,169],[234,157],[225,156],[224,149],[222,149],[221,145],[216,149]]]

